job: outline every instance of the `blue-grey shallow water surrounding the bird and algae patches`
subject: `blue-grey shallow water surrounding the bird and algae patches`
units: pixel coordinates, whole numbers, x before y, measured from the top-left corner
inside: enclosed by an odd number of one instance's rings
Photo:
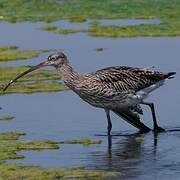
[[[180,120],[179,74],[180,38],[93,38],[85,34],[56,35],[37,30],[43,23],[0,23],[0,45],[14,44],[20,48],[64,49],[73,66],[82,72],[112,65],[156,66],[162,71],[177,71],[175,79],[152,93],[159,124],[167,132],[137,134],[135,128],[112,114],[113,136],[106,136],[103,110],[82,102],[71,91],[57,93],[13,94],[0,97],[1,114],[16,119],[1,122],[0,130],[21,130],[23,139],[57,141],[82,137],[101,139],[102,144],[60,145],[59,150],[22,151],[25,159],[10,161],[43,167],[89,168],[123,172],[124,179],[179,179]],[[104,51],[94,49],[102,47]],[[36,64],[44,59],[1,63],[5,66]],[[144,122],[152,127],[149,109],[144,108]]]

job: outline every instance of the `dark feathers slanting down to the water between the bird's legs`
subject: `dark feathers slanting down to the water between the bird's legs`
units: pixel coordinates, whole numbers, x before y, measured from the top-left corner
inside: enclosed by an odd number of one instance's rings
[[[112,110],[115,114],[120,116],[122,119],[136,127],[137,129],[140,130],[142,133],[149,132],[151,129],[148,128],[146,125],[144,125],[140,121],[140,117],[138,114],[133,113],[131,110]]]

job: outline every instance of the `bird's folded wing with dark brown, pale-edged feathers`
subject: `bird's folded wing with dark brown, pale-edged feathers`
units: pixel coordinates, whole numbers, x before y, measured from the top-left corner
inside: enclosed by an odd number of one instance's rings
[[[96,71],[95,76],[116,91],[144,89],[168,77],[168,73],[146,68],[115,66]]]

